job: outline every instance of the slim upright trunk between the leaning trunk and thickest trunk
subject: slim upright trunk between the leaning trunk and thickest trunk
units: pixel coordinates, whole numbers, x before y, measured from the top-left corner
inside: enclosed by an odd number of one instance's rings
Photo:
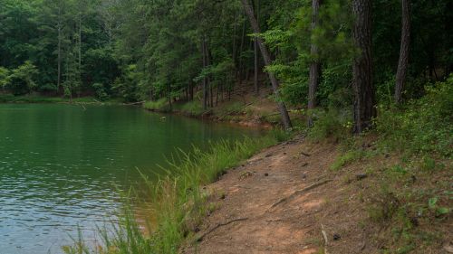
[[[318,13],[319,13],[319,5],[321,0],[313,0],[312,1],[312,33],[313,30],[318,25]],[[308,109],[313,109],[316,107],[316,89],[318,89],[319,85],[319,76],[320,76],[320,69],[321,64],[318,60],[318,46],[312,42],[312,46],[310,49],[310,54],[312,56],[312,63],[310,64],[310,78],[308,83]],[[313,127],[313,118],[311,112],[308,114],[307,119],[307,126]]]

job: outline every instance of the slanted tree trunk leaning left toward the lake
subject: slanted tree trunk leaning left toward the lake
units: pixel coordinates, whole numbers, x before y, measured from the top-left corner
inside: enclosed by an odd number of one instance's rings
[[[253,11],[253,7],[248,3],[248,0],[241,0],[242,5],[244,6],[244,9],[246,11],[246,14],[248,16],[248,19],[250,20],[250,24],[254,30],[254,33],[261,33],[258,23],[256,22],[255,19],[255,14]],[[265,65],[268,66],[272,63],[270,54],[267,50],[267,47],[265,46],[265,43],[263,42],[263,39],[261,37],[257,37],[256,41],[258,42],[258,46],[261,50],[261,54],[263,55],[263,59],[265,61]],[[274,90],[275,98],[278,100],[280,98],[280,92],[278,91],[279,83],[278,80],[276,80],[274,73],[268,71],[267,72],[269,75],[269,80],[271,80],[272,84],[272,89]],[[289,129],[291,128],[291,119],[289,118],[288,111],[286,110],[286,106],[282,101],[278,102],[278,109],[280,111],[280,114],[282,115],[282,120],[284,123],[284,128]]]

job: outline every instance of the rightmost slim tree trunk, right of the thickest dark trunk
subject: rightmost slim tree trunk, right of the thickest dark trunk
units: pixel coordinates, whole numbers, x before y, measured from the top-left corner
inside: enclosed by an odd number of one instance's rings
[[[398,61],[398,71],[395,84],[395,103],[400,104],[402,98],[402,89],[406,82],[409,62],[410,46],[410,0],[401,0],[401,45],[400,61]]]

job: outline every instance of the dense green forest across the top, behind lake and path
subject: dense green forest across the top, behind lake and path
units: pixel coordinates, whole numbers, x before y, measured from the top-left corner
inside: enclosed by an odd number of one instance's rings
[[[418,99],[448,77],[452,6],[361,2],[2,0],[0,84],[4,94],[208,108],[265,72],[282,107],[353,104],[366,122],[377,104]]]

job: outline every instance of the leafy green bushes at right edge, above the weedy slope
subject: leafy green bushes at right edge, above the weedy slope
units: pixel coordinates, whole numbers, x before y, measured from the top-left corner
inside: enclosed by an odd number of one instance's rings
[[[404,108],[379,107],[375,124],[381,149],[451,156],[453,78],[427,86],[426,93]]]

